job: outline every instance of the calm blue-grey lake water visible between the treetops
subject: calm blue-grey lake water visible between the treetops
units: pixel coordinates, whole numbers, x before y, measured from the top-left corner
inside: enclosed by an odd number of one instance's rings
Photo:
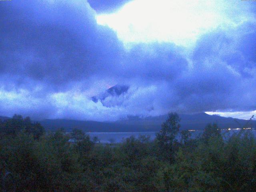
[[[230,131],[222,131],[224,138],[229,137],[235,132],[239,130],[230,130]],[[101,133],[87,133],[91,138],[98,137],[101,143],[120,143],[122,140],[129,138],[130,136],[134,136],[138,138],[140,135],[150,136],[150,140],[154,140],[156,138],[157,132],[101,132]],[[253,130],[252,133],[256,136],[256,131]],[[202,134],[202,131],[193,131],[191,132],[192,138],[196,138],[198,135]],[[177,136],[177,139],[180,139],[180,136]]]

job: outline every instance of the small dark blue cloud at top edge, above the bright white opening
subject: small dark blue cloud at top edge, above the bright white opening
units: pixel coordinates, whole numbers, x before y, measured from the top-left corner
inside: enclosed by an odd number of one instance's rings
[[[109,13],[118,10],[131,0],[88,0],[90,6],[98,13]]]

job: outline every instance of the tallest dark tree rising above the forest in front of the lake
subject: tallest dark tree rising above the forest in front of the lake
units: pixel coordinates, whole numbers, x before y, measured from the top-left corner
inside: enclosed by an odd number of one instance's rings
[[[162,124],[162,129],[156,135],[156,139],[165,158],[172,162],[174,142],[180,129],[180,118],[177,113],[169,113],[168,118]]]

